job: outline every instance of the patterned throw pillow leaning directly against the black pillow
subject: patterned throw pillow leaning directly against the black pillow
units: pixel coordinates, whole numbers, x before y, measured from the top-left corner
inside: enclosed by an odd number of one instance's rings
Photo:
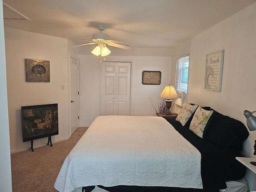
[[[207,126],[207,124],[210,124],[212,114],[213,110],[204,110],[199,106],[192,118],[189,129],[197,136],[203,138],[204,128]]]

